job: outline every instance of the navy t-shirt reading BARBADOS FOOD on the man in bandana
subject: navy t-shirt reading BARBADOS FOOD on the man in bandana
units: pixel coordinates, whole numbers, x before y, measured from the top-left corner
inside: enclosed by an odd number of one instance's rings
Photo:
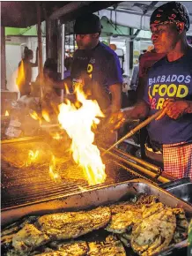
[[[166,99],[192,101],[192,49],[174,62],[166,56],[155,63],[148,74],[144,101],[151,106],[150,116],[162,109]],[[174,120],[165,116],[147,126],[151,140],[174,144],[192,140],[192,115],[184,114]]]

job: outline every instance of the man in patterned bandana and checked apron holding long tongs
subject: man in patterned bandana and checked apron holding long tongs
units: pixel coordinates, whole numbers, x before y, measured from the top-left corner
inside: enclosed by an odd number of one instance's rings
[[[132,109],[122,109],[111,120],[116,128],[127,118],[161,115],[147,126],[146,154],[160,162],[174,177],[192,178],[192,48],[186,33],[186,7],[169,2],[151,14],[151,40],[157,53],[166,56],[155,63],[144,88],[144,98]],[[117,121],[118,120],[118,121]]]

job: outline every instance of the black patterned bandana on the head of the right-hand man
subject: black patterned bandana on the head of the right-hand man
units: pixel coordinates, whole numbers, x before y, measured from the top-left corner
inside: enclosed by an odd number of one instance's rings
[[[170,24],[183,22],[189,28],[189,15],[186,7],[178,2],[169,2],[159,6],[151,14],[150,24]]]

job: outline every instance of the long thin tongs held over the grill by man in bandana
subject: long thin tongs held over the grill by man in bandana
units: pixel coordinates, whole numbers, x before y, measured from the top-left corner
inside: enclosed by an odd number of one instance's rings
[[[119,139],[117,142],[114,143],[114,145],[112,145],[111,147],[109,147],[107,150],[105,150],[103,152],[102,155],[107,154],[108,151],[110,151],[112,148],[116,147],[117,145],[119,145],[123,140],[128,139],[129,137],[131,137],[133,134],[135,134],[136,132],[138,132],[141,128],[143,128],[145,125],[150,124],[150,122],[154,119],[156,119],[157,117],[159,117],[159,115],[161,114],[162,110],[160,109],[158,112],[156,112],[155,114],[153,114],[151,117],[148,117],[146,120],[144,120],[144,122],[142,122],[141,124],[138,124],[135,128],[133,128],[132,130],[130,130],[125,136],[122,137],[122,139]]]

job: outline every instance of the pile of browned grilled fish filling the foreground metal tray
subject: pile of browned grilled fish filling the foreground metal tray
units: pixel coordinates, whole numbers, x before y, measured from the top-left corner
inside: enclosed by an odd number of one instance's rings
[[[84,239],[104,229],[103,240]],[[92,210],[26,217],[2,230],[1,244],[6,256],[126,256],[126,247],[147,256],[181,242],[187,233],[183,209],[142,194],[136,201]]]

